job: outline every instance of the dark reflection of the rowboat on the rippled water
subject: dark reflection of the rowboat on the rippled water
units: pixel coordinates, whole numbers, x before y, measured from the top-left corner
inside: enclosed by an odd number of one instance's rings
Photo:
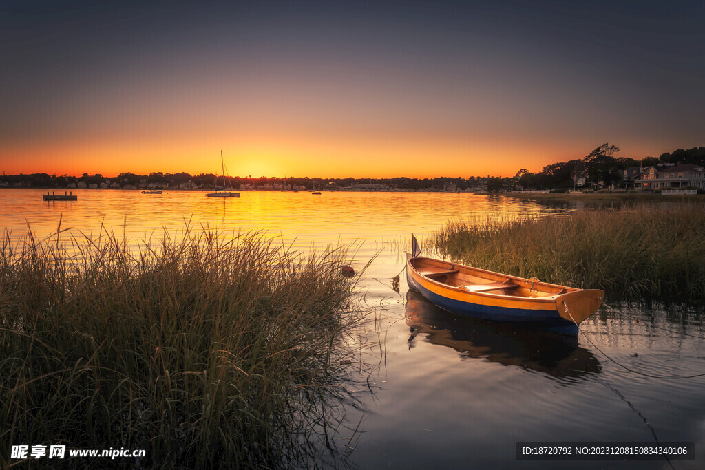
[[[460,357],[484,358],[553,378],[579,378],[601,371],[598,359],[578,347],[576,337],[451,314],[412,289],[406,296],[410,348],[421,334],[431,344],[460,352]]]

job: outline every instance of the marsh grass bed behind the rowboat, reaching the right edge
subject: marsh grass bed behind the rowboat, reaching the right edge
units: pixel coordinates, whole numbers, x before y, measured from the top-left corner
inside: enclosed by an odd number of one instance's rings
[[[454,221],[424,243],[479,268],[622,299],[705,299],[705,204]]]

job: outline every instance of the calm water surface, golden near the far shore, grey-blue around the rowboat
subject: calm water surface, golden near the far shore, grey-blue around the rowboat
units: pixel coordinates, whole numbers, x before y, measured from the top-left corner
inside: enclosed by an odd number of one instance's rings
[[[663,380],[625,371],[611,359],[658,376],[705,373],[705,326],[698,307],[608,309],[569,340],[539,331],[463,319],[423,297],[392,289],[410,233],[446,221],[565,214],[589,209],[477,194],[243,192],[212,200],[202,192],[73,190],[77,202],[43,202],[41,190],[0,190],[0,227],[15,238],[98,233],[130,239],[208,225],[225,232],[266,230],[308,249],[359,242],[357,266],[376,255],[362,280],[369,347],[350,366],[350,402],[333,443],[353,468],[696,469],[705,462],[705,378]],[[599,286],[595,286],[599,287]],[[609,302],[608,302],[609,303]],[[360,364],[364,363],[364,366]],[[369,383],[369,385],[368,385]],[[359,423],[359,426],[358,426]],[[357,433],[353,431],[357,428]],[[517,461],[517,442],[694,442],[695,460]]]

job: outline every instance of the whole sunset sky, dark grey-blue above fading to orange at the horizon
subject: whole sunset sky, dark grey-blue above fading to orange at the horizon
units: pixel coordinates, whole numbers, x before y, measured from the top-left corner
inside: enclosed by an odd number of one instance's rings
[[[0,3],[0,171],[514,175],[705,145],[705,1]]]

